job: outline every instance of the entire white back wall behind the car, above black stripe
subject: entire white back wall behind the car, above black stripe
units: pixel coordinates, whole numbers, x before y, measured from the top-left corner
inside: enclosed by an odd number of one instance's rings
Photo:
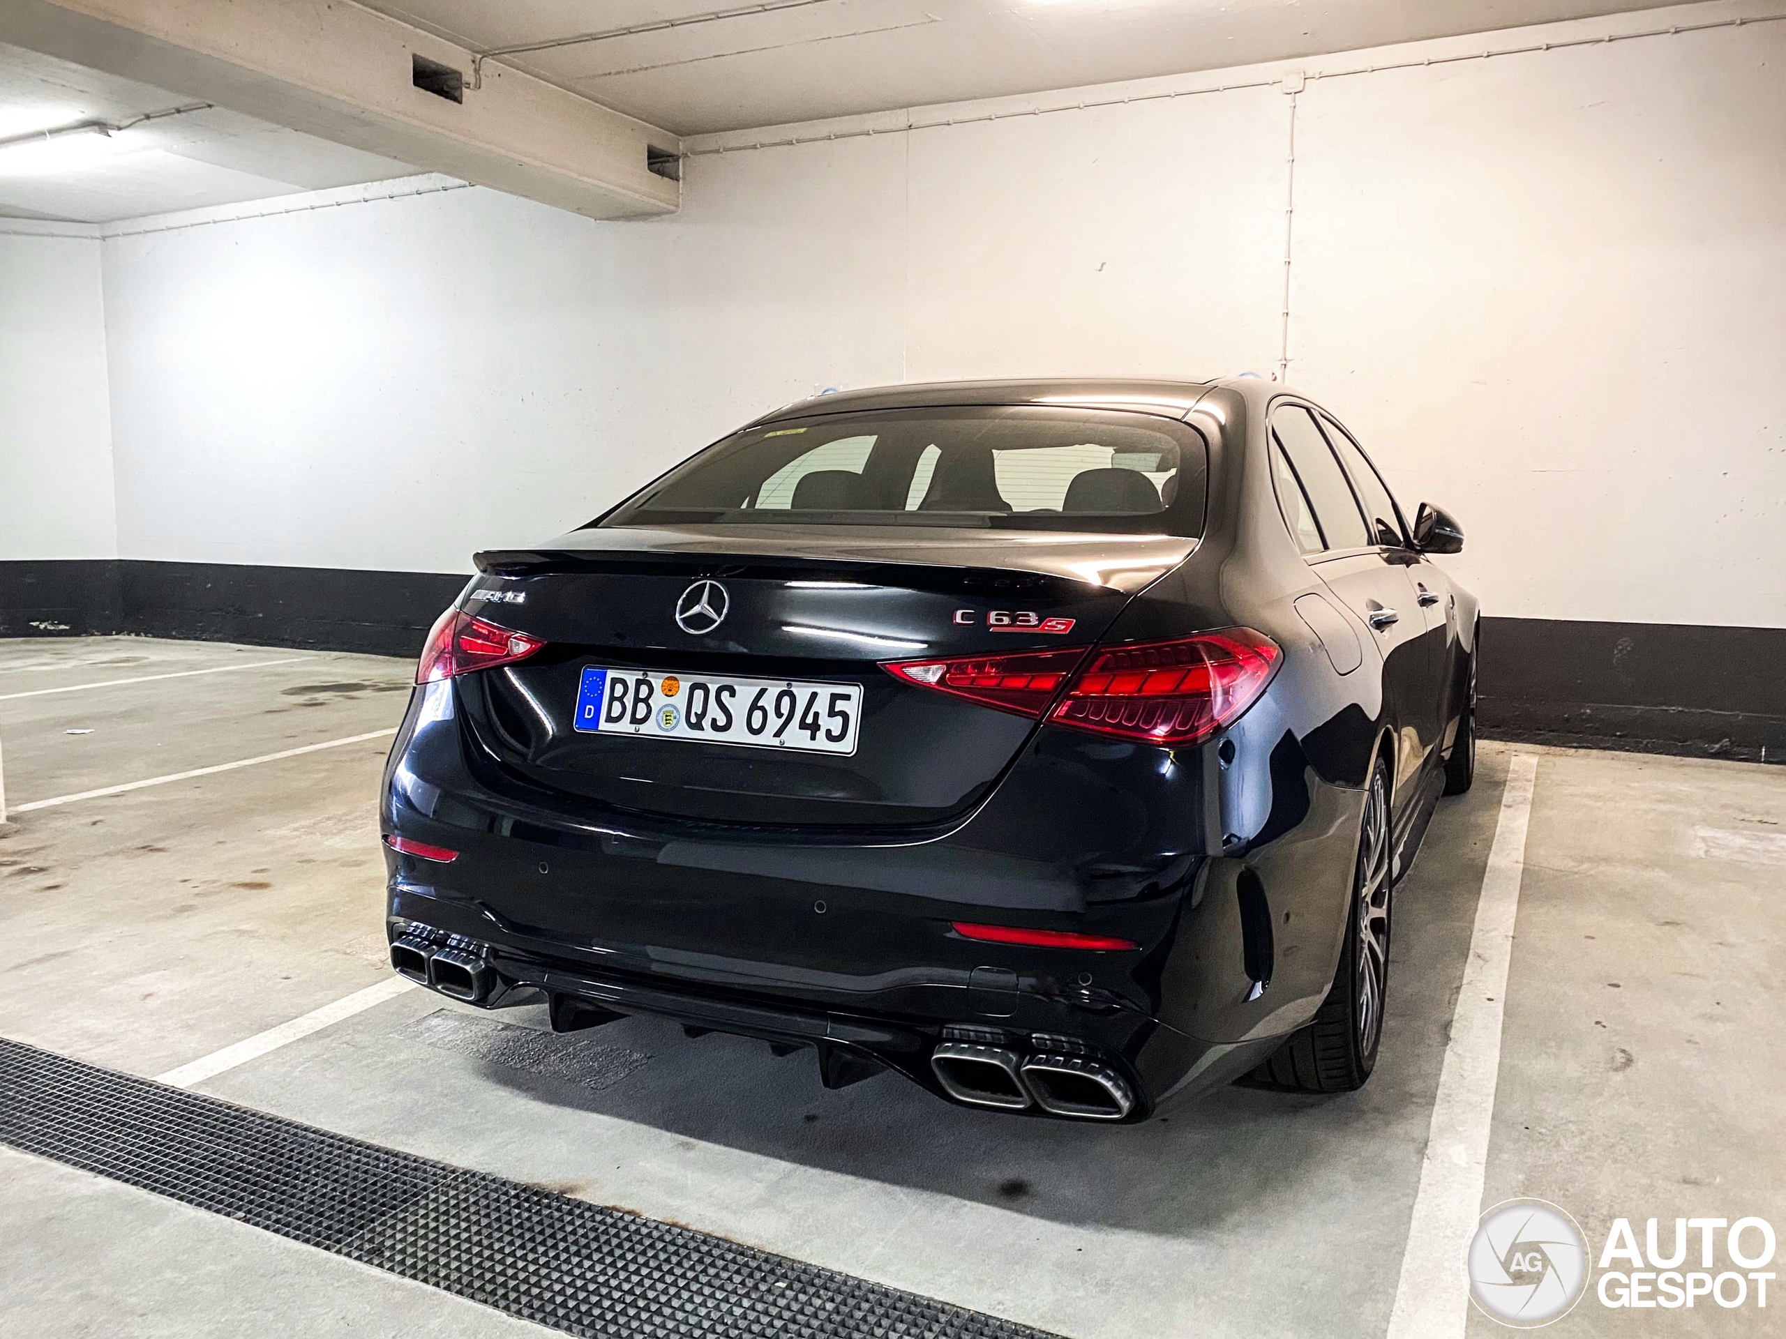
[[[1338,71],[1738,12],[1779,5],[1304,62],[1289,380],[1459,516],[1490,612],[1786,625],[1786,23]],[[1272,370],[1289,120],[745,148],[648,223],[463,189],[113,237],[120,550],[461,571],[823,386]]]

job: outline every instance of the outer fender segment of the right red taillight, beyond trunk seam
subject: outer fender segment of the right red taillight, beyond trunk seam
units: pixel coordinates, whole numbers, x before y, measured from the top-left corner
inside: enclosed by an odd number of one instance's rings
[[[1195,744],[1257,702],[1282,652],[1252,628],[1100,650],[1050,719],[1150,744]]]

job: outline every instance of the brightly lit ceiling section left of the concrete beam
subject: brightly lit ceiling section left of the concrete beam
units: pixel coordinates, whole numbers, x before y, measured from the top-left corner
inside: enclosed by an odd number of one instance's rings
[[[77,121],[113,125],[193,105],[168,89],[0,45],[0,139]],[[0,216],[109,223],[413,173],[221,107],[0,148]]]

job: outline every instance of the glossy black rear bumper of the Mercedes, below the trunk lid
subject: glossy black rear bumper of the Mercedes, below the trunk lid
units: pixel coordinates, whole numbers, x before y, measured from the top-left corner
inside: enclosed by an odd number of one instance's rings
[[[1202,853],[1213,755],[1166,766],[1161,750],[1043,732],[954,830],[852,843],[598,807],[572,818],[493,784],[468,748],[448,686],[418,693],[382,818],[386,832],[461,853],[439,864],[386,850],[388,923],[393,946],[470,957],[470,968],[446,962],[477,989],[446,993],[473,1003],[536,987],[597,1010],[814,1046],[827,1080],[857,1057],[947,1100],[1029,1114],[1045,1114],[1041,1084],[1084,1096],[1114,1077],[1127,1089],[1120,1119],[1138,1121],[1166,1094],[1245,1073],[1313,1016],[1331,980],[1336,937],[1320,946],[1327,962],[1313,962],[1284,937],[1302,927],[1288,914],[1272,993],[1248,978],[1257,952],[1243,943],[1236,880],[1252,866]],[[1273,841],[1275,864],[1309,834],[1340,830],[1334,803],[1304,798],[1304,821]],[[952,921],[1070,928],[1138,948],[981,943]],[[1309,968],[1313,987],[1295,975]],[[998,1052],[1016,1091],[963,1096],[936,1064],[952,1044]],[[1032,1089],[1023,1066],[1041,1057],[1072,1064]],[[1102,1077],[1066,1073],[1088,1066]]]

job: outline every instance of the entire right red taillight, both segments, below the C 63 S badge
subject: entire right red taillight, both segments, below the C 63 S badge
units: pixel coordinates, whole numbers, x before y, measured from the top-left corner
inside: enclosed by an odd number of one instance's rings
[[[907,684],[1020,716],[1047,712],[1056,725],[1075,730],[1179,746],[1207,739],[1238,719],[1257,702],[1281,655],[1263,632],[1223,628],[1107,646],[1089,655],[1075,646],[952,661],[886,661],[880,668]]]

